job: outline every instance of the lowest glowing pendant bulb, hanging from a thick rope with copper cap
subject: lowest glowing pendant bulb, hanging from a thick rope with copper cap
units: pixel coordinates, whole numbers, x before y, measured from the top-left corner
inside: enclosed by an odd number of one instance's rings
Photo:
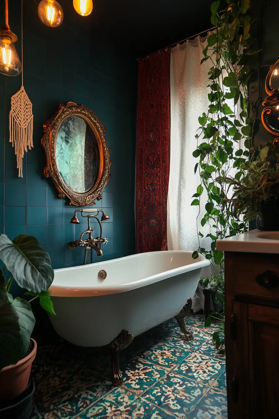
[[[8,28],[0,29],[0,73],[17,76],[21,72],[21,63],[15,50],[14,42],[18,39]]]

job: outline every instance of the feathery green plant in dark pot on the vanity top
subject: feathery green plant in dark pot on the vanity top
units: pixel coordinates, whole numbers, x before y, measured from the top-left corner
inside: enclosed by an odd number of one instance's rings
[[[241,165],[240,177],[220,177],[233,187],[233,195],[223,199],[236,219],[250,222],[256,218],[259,230],[279,230],[278,152],[271,143],[259,146],[259,154]]]

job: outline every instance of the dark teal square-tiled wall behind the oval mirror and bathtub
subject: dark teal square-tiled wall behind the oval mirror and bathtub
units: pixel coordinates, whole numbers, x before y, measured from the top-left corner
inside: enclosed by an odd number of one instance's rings
[[[101,27],[92,30],[94,16],[81,18],[71,1],[59,3],[64,24],[48,28],[38,18],[36,2],[23,2],[23,84],[34,115],[34,148],[23,158],[23,178],[17,176],[9,142],[10,97],[19,90],[21,76],[0,75],[0,233],[10,239],[21,233],[36,236],[49,252],[53,268],[80,265],[84,257],[82,248],[72,250],[67,243],[86,230],[86,220],[80,218],[80,225],[69,224],[75,208],[68,206],[67,199],[59,199],[52,181],[44,178],[40,144],[44,122],[59,103],[67,101],[96,112],[106,127],[113,161],[111,180],[102,201],[97,202],[110,216],[103,223],[108,245],[103,246],[102,258],[93,254],[93,261],[135,253],[136,62],[114,45]],[[20,2],[9,12],[19,52]],[[98,226],[94,227],[97,236]]]

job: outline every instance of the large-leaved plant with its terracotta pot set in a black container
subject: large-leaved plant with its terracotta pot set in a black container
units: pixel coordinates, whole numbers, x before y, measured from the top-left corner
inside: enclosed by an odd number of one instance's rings
[[[54,271],[47,251],[30,235],[18,235],[13,241],[0,235],[0,260],[0,417],[28,418],[34,391],[33,383],[28,382],[37,348],[30,337],[35,325],[30,302],[39,298],[41,306],[55,314],[48,291]],[[31,295],[29,301],[13,298],[9,292],[13,280]]]

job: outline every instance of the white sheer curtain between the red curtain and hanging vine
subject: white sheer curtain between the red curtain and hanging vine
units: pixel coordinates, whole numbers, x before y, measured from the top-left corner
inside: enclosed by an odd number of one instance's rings
[[[195,134],[200,127],[199,116],[207,113],[210,93],[208,85],[208,71],[212,65],[207,60],[200,65],[204,57],[202,50],[207,46],[207,40],[199,36],[193,41],[187,41],[172,49],[171,53],[171,147],[170,173],[168,193],[168,221],[167,237],[169,250],[189,250],[198,248],[197,223],[204,215],[206,194],[201,197],[201,213],[197,206],[191,207],[200,184],[197,171],[194,174],[198,159],[192,156],[197,148]],[[202,202],[205,200],[205,202]],[[205,233],[203,229],[203,233]],[[206,235],[206,234],[205,234]],[[203,247],[210,246],[202,239]],[[208,244],[208,246],[207,246]],[[203,276],[210,274],[203,272]],[[204,297],[201,287],[193,298],[192,308],[198,311],[203,308]]]

